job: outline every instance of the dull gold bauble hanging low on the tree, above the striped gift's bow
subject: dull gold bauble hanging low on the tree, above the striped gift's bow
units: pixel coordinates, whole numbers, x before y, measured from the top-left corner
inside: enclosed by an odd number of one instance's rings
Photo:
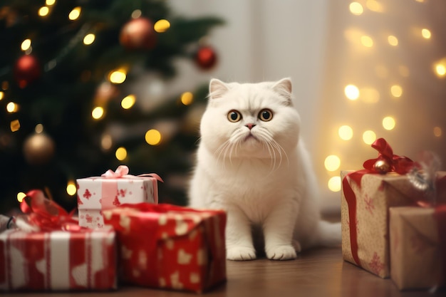
[[[31,165],[46,164],[54,155],[54,141],[45,133],[36,133],[24,142],[24,155],[26,161]]]

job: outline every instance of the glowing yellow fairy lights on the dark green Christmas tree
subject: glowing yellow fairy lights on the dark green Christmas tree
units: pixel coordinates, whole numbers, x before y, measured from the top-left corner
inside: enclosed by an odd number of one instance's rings
[[[46,0],[46,5],[42,6],[38,11],[36,12],[38,16],[41,18],[46,18],[48,15],[51,14],[53,6],[56,4],[56,0]],[[71,21],[76,21],[79,19],[79,17],[82,14],[82,7],[77,6],[71,10],[71,12],[68,14],[68,19]],[[133,14],[131,15],[132,19],[138,19],[142,16],[142,12],[140,10],[133,11]],[[157,33],[164,33],[170,28],[170,22],[167,19],[160,19],[153,24],[153,30]],[[78,34],[76,35],[76,38],[79,38],[79,41],[83,43],[84,46],[90,46],[95,42],[95,32],[89,31],[89,26],[83,26]],[[73,41],[74,42],[74,41]],[[77,41],[76,41],[77,42]],[[70,46],[70,45],[68,45]],[[72,45],[74,46],[74,45]],[[21,43],[20,50],[24,52],[25,55],[30,55],[33,51],[33,41],[31,38],[26,38]],[[214,56],[212,56],[214,53],[209,52],[209,48],[204,48],[204,50],[208,50],[204,53],[207,53],[207,56],[204,58],[212,58],[212,61],[209,62],[209,60],[202,60],[202,63],[207,62],[208,65],[199,65],[203,66],[203,68],[210,67],[214,63]],[[204,54],[203,53],[203,54]],[[209,53],[212,55],[209,56]],[[51,70],[54,66],[57,64],[57,57],[53,59],[53,61],[49,61],[46,63],[46,66],[44,69],[46,71]],[[98,87],[98,88],[105,88],[108,89],[108,91],[111,90],[113,85],[120,85],[125,82],[128,74],[128,68],[123,66],[117,69],[113,69],[106,75],[105,81]],[[7,100],[5,92],[9,88],[9,83],[7,81],[4,81],[1,83],[1,89],[0,89],[0,100]],[[125,97],[121,100],[120,105],[123,110],[128,110],[130,108],[133,108],[138,98],[135,94],[128,94],[125,95]],[[185,92],[180,95],[179,102],[183,105],[191,105],[194,101],[194,96],[190,92]],[[6,103],[6,111],[7,113],[13,114],[17,113],[20,110],[20,106],[17,103],[14,103],[14,101],[10,101],[9,103]],[[91,110],[91,118],[93,120],[100,121],[102,120],[106,115],[106,100],[95,100],[95,106],[93,106]],[[18,119],[12,120],[10,123],[10,130],[11,132],[16,132],[20,130],[20,121]],[[35,127],[35,132],[37,135],[43,135],[44,127],[42,124],[38,124]],[[168,138],[164,137],[162,135],[162,131],[157,129],[149,129],[147,132],[145,132],[145,142],[147,142],[147,145],[160,145],[163,141],[163,139]],[[113,137],[107,133],[105,133],[101,139],[101,147],[103,150],[110,150],[113,147]],[[125,160],[127,157],[128,152],[125,147],[118,147],[115,150],[115,157],[117,160]],[[74,179],[68,180],[67,186],[66,186],[66,192],[70,196],[76,195],[76,182]],[[24,192],[19,192],[17,194],[17,199],[19,202],[21,202],[26,194]]]

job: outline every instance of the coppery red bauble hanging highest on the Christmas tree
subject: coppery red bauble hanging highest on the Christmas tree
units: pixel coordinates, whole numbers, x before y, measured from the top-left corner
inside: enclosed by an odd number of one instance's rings
[[[119,42],[128,50],[151,49],[156,41],[152,21],[143,17],[125,23],[119,35]]]

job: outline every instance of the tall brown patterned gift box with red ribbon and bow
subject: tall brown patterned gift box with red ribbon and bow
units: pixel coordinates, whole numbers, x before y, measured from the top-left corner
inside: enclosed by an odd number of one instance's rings
[[[382,278],[390,276],[389,208],[415,205],[423,196],[408,177],[415,162],[393,155],[379,138],[372,147],[378,158],[363,170],[341,172],[341,229],[343,259]],[[437,172],[437,178],[446,172]]]

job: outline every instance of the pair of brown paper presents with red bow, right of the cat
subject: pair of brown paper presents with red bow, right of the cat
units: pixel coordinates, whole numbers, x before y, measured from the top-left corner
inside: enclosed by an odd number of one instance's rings
[[[341,172],[343,259],[400,290],[446,285],[446,172],[435,155],[419,162],[393,155],[383,138],[378,158]]]

